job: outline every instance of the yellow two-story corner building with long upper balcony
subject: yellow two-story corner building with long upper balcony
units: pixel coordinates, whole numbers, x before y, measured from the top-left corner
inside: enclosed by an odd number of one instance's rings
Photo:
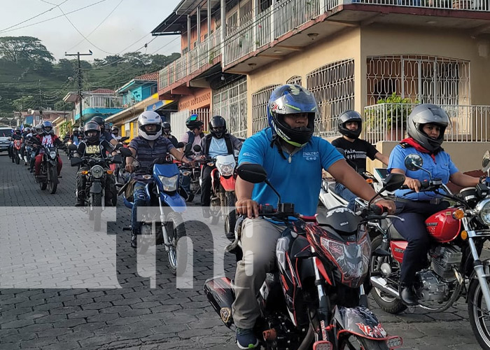
[[[201,29],[212,33],[204,38]],[[458,142],[462,169],[476,165],[463,153],[489,147],[489,0],[183,0],[158,32],[180,34],[183,45],[182,57],[160,71],[160,98],[208,88],[211,113],[223,113],[223,100],[240,95],[228,90],[221,99],[227,86],[213,85],[242,76],[248,135],[267,125],[270,92],[299,83],[318,101],[322,137],[336,137],[339,113],[356,109],[365,138],[400,141],[412,106],[431,102],[451,117],[447,140]],[[240,108],[229,110],[229,125],[242,125]]]

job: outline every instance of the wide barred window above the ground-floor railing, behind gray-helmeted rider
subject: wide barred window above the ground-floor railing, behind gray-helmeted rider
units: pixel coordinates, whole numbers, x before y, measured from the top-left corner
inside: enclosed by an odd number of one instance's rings
[[[367,105],[392,94],[414,103],[469,105],[470,62],[426,55],[367,57]]]

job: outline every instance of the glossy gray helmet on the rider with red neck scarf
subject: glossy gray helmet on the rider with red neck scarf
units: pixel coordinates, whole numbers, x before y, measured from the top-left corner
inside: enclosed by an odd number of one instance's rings
[[[427,151],[437,151],[442,141],[444,141],[444,131],[451,123],[444,109],[435,104],[419,104],[412,109],[412,113],[407,120],[407,133],[420,146],[426,148]],[[440,134],[437,139],[431,139],[425,132],[422,131],[424,124],[433,124],[440,127]]]

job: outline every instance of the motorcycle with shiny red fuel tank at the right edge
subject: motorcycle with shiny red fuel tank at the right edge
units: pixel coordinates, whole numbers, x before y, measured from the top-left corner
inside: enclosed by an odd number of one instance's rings
[[[453,195],[440,179],[422,168],[419,155],[407,155],[405,167],[428,173],[421,191],[439,193],[454,202],[426,220],[430,248],[425,267],[416,273],[414,288],[419,306],[433,312],[451,307],[462,295],[468,302],[470,325],[482,349],[490,350],[490,260],[480,260],[484,241],[490,237],[490,193],[485,184],[463,188]],[[490,153],[484,156],[484,172],[490,168]],[[406,188],[406,186],[404,186]],[[379,307],[398,314],[407,307],[398,293],[400,266],[407,241],[386,222],[372,223],[379,235],[372,241],[372,296]],[[486,323],[485,323],[486,322]]]

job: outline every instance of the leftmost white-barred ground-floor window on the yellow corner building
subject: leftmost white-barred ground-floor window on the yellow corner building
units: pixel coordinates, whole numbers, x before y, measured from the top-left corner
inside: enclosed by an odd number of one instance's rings
[[[246,78],[240,78],[213,93],[213,116],[222,116],[235,137],[246,137]]]

